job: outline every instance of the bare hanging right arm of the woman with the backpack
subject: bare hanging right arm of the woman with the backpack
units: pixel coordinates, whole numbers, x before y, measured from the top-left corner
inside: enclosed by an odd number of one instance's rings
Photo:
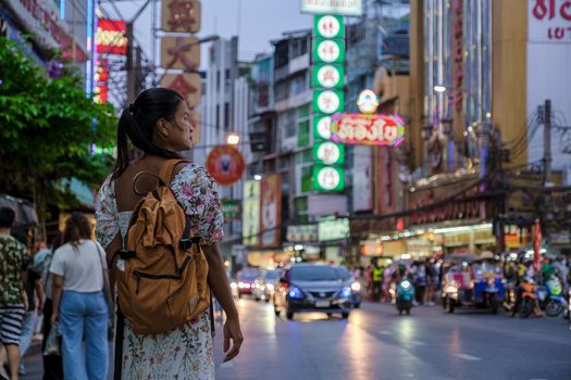
[[[224,261],[218,246],[215,244],[202,245],[202,250],[204,251],[209,265],[208,284],[227,316],[226,322],[224,324],[224,352],[226,353],[224,362],[227,362],[238,355],[241,342],[244,341],[238,311],[232,299],[228,278],[226,277],[226,267],[224,266]],[[233,341],[232,349],[229,345],[231,340]]]

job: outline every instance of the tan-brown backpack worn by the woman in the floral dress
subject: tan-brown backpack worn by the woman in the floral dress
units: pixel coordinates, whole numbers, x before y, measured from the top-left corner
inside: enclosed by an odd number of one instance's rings
[[[185,161],[167,161],[159,187],[146,194],[137,191],[137,178],[154,175],[142,172],[133,180],[135,192],[144,198],[135,206],[112,270],[119,306],[135,333],[174,330],[210,304],[208,262],[200,238],[191,236],[189,217],[170,188],[174,167],[181,162]]]

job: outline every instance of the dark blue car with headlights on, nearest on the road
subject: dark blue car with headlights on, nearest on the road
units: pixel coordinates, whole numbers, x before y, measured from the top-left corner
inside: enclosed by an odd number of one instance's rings
[[[347,318],[353,290],[350,281],[342,276],[339,267],[321,264],[297,264],[280,278],[274,293],[274,312],[282,312],[287,319],[295,313],[340,313]]]

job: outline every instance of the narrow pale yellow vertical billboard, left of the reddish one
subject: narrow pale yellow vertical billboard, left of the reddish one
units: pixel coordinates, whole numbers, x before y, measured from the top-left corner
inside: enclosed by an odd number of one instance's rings
[[[260,181],[244,182],[243,195],[243,243],[258,245],[260,242]]]

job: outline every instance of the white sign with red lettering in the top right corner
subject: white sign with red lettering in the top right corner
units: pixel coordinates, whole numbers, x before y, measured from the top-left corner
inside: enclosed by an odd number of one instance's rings
[[[571,43],[571,0],[527,0],[527,40]]]

